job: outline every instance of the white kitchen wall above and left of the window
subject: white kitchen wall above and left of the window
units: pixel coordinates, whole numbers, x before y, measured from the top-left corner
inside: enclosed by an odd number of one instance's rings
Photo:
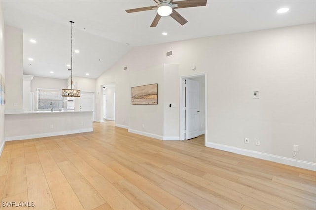
[[[31,81],[31,91],[34,92],[34,108],[37,110],[38,107],[38,88],[45,89],[57,89],[60,90],[63,88],[67,88],[67,79],[54,79],[54,78],[46,78],[34,76]]]

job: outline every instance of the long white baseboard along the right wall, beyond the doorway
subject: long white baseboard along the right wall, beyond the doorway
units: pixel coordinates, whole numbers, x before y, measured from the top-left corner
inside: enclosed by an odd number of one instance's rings
[[[233,152],[240,155],[246,155],[250,157],[260,158],[263,160],[273,161],[276,163],[281,163],[281,164],[286,164],[290,166],[295,166],[295,167],[299,167],[303,169],[316,171],[316,163],[312,163],[308,161],[296,160],[294,158],[287,158],[287,157],[282,157],[282,156],[277,156],[277,155],[272,155],[272,154],[267,154],[267,153],[257,152],[257,151],[247,150],[247,149],[241,149],[241,148],[227,146],[223,144],[217,144],[217,143],[206,142],[206,146],[210,148],[214,148],[214,149],[227,151],[227,152]]]

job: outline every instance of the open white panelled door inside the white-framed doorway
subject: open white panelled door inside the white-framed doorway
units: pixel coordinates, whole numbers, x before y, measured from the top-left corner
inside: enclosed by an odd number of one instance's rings
[[[199,83],[185,80],[185,140],[198,136]]]

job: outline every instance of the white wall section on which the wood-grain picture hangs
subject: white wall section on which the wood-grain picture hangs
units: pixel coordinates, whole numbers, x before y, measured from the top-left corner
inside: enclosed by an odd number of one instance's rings
[[[115,75],[118,78],[115,87],[116,125],[128,128],[129,132],[163,140],[178,140],[179,85],[174,80],[178,80],[179,78],[179,66],[162,64],[145,69],[117,70],[115,73],[119,74]],[[111,80],[102,80],[99,78],[97,86],[101,84],[100,81]],[[120,85],[117,84],[117,81]],[[131,87],[154,83],[158,83],[158,105],[131,105]],[[107,89],[105,92],[107,93]],[[122,95],[125,97],[122,97]],[[107,101],[109,97],[112,97],[112,95],[106,96]],[[101,100],[103,101],[103,99]],[[173,104],[171,108],[169,107],[170,103]],[[106,109],[108,113],[108,106]],[[122,114],[122,111],[126,111],[128,115]],[[127,116],[128,120],[126,121]],[[108,116],[106,117],[108,118]]]

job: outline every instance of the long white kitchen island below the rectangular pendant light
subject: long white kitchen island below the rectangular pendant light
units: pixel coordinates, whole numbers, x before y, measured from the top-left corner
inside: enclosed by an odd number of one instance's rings
[[[5,113],[5,141],[93,131],[93,111]]]

